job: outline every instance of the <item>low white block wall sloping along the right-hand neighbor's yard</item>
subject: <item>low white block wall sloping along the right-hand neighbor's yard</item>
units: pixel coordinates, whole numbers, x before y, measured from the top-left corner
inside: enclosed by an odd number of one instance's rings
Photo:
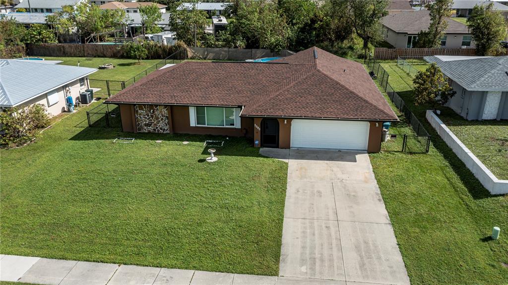
[[[432,112],[427,110],[427,121],[437,131],[453,152],[471,170],[474,177],[491,194],[508,194],[508,180],[499,180],[492,172],[460,141],[460,139]]]

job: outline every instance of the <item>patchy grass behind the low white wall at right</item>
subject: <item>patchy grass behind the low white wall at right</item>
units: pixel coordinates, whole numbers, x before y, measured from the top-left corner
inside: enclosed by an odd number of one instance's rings
[[[468,121],[448,108],[439,119],[498,179],[508,180],[508,121]]]

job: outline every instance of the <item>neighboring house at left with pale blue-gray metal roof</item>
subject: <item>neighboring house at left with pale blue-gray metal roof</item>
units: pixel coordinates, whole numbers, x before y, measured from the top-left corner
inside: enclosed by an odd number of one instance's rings
[[[76,101],[89,88],[96,68],[46,64],[38,60],[0,59],[0,109],[42,104],[54,116],[66,110],[66,97]]]

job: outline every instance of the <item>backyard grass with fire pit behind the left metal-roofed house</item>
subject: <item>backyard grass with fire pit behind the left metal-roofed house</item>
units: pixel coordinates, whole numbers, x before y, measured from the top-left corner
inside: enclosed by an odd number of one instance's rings
[[[90,79],[100,80],[119,80],[126,81],[141,72],[144,72],[147,68],[160,62],[160,59],[145,59],[139,64],[135,59],[124,59],[124,58],[109,58],[109,57],[94,57],[91,60],[87,60],[85,57],[46,57],[46,60],[62,60],[60,64],[74,65],[82,67],[99,68],[99,65],[105,63],[113,63],[115,68],[113,69],[99,69],[96,73],[89,76]]]

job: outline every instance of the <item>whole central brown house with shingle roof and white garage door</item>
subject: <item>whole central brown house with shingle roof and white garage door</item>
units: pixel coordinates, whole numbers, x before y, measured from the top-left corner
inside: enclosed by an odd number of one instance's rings
[[[111,96],[123,131],[245,136],[257,147],[378,152],[397,121],[362,64],[310,48],[269,62],[186,61]]]

